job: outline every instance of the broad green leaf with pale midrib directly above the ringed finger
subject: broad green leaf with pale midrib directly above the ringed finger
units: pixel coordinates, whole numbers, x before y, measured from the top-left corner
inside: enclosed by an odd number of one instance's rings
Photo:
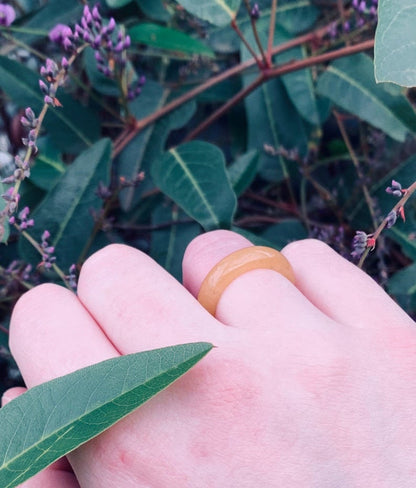
[[[216,146],[192,141],[171,149],[154,161],[151,176],[205,230],[231,226],[236,197]]]

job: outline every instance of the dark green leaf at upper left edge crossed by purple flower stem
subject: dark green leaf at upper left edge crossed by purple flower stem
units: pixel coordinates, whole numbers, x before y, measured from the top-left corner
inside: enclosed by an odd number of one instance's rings
[[[39,76],[21,63],[0,56],[0,88],[18,107],[31,107],[39,114],[43,95],[39,89]],[[62,150],[75,152],[80,146],[91,145],[99,137],[100,122],[95,112],[84,107],[71,96],[58,90],[62,107],[50,107],[43,125]]]

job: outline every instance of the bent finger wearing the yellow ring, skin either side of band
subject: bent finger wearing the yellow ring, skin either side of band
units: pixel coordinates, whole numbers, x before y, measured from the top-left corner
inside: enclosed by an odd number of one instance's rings
[[[185,286],[198,295],[206,274],[221,259],[234,251],[252,245],[244,237],[230,231],[213,231],[194,239],[183,261]],[[308,321],[304,320],[308,316]],[[328,320],[299,290],[281,274],[267,269],[244,273],[235,279],[222,294],[216,318],[239,327],[279,326],[314,327],[318,321]]]

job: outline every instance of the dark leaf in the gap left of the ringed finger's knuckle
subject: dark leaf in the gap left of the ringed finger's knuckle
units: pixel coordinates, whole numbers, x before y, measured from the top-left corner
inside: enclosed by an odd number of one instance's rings
[[[166,203],[156,207],[152,215],[156,229],[152,232],[150,255],[179,282],[182,282],[182,258],[186,246],[201,233],[199,224],[181,222],[183,220],[189,220],[189,217],[176,205]]]

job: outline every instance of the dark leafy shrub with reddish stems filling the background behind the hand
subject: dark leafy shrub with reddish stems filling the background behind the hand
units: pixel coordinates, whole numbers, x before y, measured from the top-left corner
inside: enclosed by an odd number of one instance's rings
[[[377,29],[373,0],[364,12],[349,0],[279,0],[276,13],[272,0],[257,3],[252,22],[239,0],[98,2],[130,35],[129,69],[147,81],[127,112],[117,83],[86,49],[59,89],[62,107],[47,112],[19,208],[31,209],[35,241],[50,232],[62,274],[123,242],[180,280],[186,245],[217,228],[277,249],[315,237],[352,260],[355,232],[374,232],[397,202],[386,187],[414,183],[413,2],[380,1]],[[2,178],[24,150],[22,110],[42,108],[39,68],[45,56],[63,54],[48,32],[73,25],[83,9],[73,0],[14,4],[17,20],[0,27]],[[253,55],[261,55],[256,36],[267,49],[271,19],[272,66],[264,70]],[[0,193],[8,187],[0,183]],[[380,234],[364,263],[413,317],[415,222],[413,198],[406,220]],[[21,383],[7,345],[13,304],[30,286],[62,283],[23,235],[5,230],[1,391]]]

